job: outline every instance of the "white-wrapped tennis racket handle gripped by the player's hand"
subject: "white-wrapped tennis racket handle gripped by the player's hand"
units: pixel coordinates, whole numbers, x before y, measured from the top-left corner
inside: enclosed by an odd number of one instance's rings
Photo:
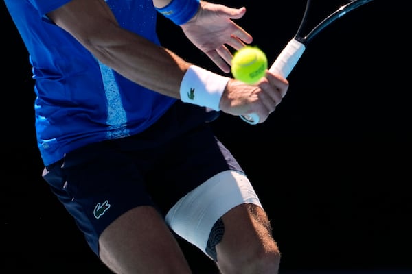
[[[271,73],[282,75],[284,78],[288,77],[304,51],[305,45],[293,38],[288,42],[288,45],[284,47],[279,56],[277,56],[275,62],[273,62],[269,68],[269,71],[271,71]],[[259,115],[255,113],[241,115],[240,118],[251,125],[259,123]]]

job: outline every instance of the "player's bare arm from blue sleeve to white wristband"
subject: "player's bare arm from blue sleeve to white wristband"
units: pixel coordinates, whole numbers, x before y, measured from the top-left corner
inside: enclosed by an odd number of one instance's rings
[[[180,98],[181,79],[190,64],[119,27],[104,2],[73,0],[47,15],[117,73],[150,90]]]

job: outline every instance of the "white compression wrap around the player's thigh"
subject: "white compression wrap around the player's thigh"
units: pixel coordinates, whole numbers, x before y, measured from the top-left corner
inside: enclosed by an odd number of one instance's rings
[[[209,256],[206,247],[211,228],[223,214],[243,203],[262,207],[246,175],[223,171],[177,201],[165,221],[174,233]]]

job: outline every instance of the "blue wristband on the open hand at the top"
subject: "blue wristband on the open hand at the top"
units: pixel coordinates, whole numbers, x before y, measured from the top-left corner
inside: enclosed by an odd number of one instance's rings
[[[163,8],[156,10],[176,25],[187,23],[198,11],[200,0],[172,0]]]

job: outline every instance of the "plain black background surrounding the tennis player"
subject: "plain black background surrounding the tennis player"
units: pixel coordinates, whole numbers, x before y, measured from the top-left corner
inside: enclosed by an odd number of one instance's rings
[[[407,2],[375,0],[319,34],[290,73],[288,95],[262,125],[227,114],[213,123],[271,217],[283,273],[412,273]],[[268,60],[293,37],[305,5],[220,3],[247,7],[237,22]],[[339,1],[328,3],[333,9]],[[3,2],[0,8],[0,271],[108,273],[41,179],[28,55]],[[159,34],[187,60],[219,72],[170,21],[159,18]],[[214,271],[200,251],[181,244],[195,273]]]

